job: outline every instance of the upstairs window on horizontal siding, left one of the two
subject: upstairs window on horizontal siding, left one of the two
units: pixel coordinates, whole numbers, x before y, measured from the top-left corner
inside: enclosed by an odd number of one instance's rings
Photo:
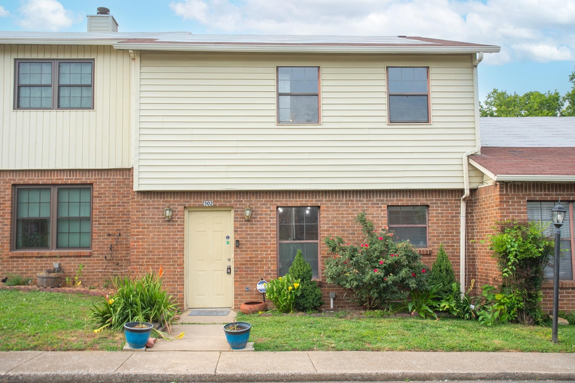
[[[319,67],[277,67],[278,124],[319,124]]]

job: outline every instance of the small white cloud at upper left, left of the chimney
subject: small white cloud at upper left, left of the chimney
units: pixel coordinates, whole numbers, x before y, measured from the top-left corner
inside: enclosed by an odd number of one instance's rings
[[[26,0],[19,9],[18,24],[29,30],[60,30],[82,20],[56,0]]]

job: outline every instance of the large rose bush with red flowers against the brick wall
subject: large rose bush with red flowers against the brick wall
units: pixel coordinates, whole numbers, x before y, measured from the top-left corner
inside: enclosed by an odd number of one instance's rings
[[[350,290],[351,300],[371,310],[404,300],[409,290],[425,290],[427,267],[409,241],[394,242],[384,227],[376,233],[365,212],[355,222],[362,226],[363,243],[346,243],[341,237],[325,238],[329,252],[325,280]]]

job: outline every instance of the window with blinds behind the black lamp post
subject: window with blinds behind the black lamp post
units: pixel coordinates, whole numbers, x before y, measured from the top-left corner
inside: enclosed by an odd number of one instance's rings
[[[553,220],[551,219],[551,209],[558,204],[558,201],[527,201],[527,219],[536,221],[543,225],[545,234],[553,236]],[[573,254],[574,242],[574,228],[571,223],[571,216],[573,215],[573,202],[561,202],[565,206],[567,213],[565,214],[565,221],[561,226],[561,253],[559,258],[559,279],[566,281],[573,281],[573,268],[575,259]],[[545,268],[545,275],[549,279],[553,279],[553,265],[555,260],[553,257],[549,260],[549,265]]]

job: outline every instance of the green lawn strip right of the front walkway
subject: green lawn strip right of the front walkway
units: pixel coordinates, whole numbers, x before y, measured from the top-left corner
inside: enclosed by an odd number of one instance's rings
[[[559,343],[551,343],[551,327],[518,324],[486,327],[461,319],[346,319],[345,317],[237,315],[252,324],[250,342],[256,351],[540,351],[575,352],[575,326],[559,327]]]

